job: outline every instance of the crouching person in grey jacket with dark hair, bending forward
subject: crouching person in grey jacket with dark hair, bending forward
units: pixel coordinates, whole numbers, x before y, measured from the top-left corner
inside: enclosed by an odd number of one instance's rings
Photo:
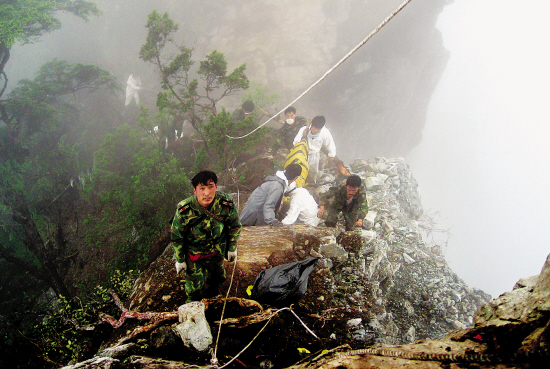
[[[252,192],[241,211],[243,226],[271,224],[278,227],[280,224],[275,218],[275,213],[281,205],[283,194],[300,174],[302,174],[302,167],[298,164],[290,164],[284,171],[280,170],[274,176],[267,176],[265,182]]]

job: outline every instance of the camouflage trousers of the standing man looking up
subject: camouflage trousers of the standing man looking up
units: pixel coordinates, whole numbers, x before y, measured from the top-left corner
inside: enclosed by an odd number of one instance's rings
[[[187,264],[185,271],[187,302],[200,301],[204,297],[219,294],[219,288],[226,279],[222,255],[217,254],[208,259],[191,261],[187,254],[185,263]],[[205,283],[208,284],[208,289],[203,291]]]

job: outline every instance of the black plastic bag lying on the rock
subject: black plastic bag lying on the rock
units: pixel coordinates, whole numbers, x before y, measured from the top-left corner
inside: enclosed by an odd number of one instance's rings
[[[263,304],[290,306],[306,293],[307,280],[319,258],[278,265],[258,273],[251,297]]]

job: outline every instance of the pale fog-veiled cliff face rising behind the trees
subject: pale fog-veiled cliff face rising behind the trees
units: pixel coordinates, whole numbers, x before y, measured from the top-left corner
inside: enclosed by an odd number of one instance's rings
[[[62,16],[63,28],[47,46],[13,50],[25,63],[8,65],[10,79],[29,78],[53,57],[94,63],[125,84],[141,75],[142,101],[153,108],[159,89],[154,68],[138,58],[147,16],[167,11],[180,24],[178,43],[203,60],[212,50],[225,54],[228,68],[246,63],[253,84],[279,94],[275,108],[293,101],[361,42],[402,0],[304,0],[300,2],[211,0],[98,0],[103,15],[88,23]],[[452,0],[415,0],[295,106],[301,115],[325,115],[346,160],[361,152],[405,156],[421,140],[431,96],[450,53],[436,22]],[[123,97],[119,102],[122,108]],[[227,110],[240,96],[222,101]],[[278,110],[277,109],[277,110]],[[349,132],[354,132],[353,135]]]

